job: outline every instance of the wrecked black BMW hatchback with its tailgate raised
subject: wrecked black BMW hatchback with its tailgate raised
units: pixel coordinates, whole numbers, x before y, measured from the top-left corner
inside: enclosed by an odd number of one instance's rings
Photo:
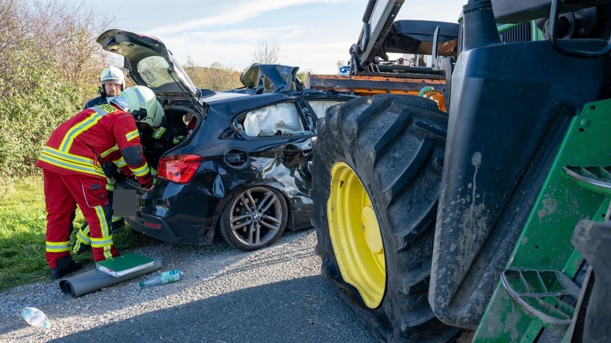
[[[285,228],[310,226],[316,120],[353,96],[305,89],[298,68],[282,65],[253,65],[243,88],[202,90],[156,38],[113,29],[97,42],[125,57],[128,77],[163,105],[163,127],[186,137],[177,145],[143,137],[157,180],[138,192],[131,227],[180,244],[211,244],[218,232],[256,250]]]

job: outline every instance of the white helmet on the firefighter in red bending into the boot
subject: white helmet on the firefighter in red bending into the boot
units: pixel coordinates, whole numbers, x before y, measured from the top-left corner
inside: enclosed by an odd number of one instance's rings
[[[113,99],[121,101],[125,100],[124,104],[118,104],[119,106],[124,107],[123,110],[125,112],[131,113],[137,122],[139,123],[147,123],[153,128],[159,128],[163,121],[163,107],[157,101],[155,97],[155,93],[147,87],[144,86],[132,86],[123,90],[123,92],[119,93],[117,99]]]

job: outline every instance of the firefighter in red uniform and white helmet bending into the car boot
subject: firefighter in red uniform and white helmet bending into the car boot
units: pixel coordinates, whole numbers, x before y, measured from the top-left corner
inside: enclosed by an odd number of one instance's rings
[[[150,188],[153,177],[142,154],[136,121],[163,115],[155,93],[134,86],[109,104],[79,112],[53,131],[36,164],[43,168],[48,212],[45,256],[53,278],[81,268],[70,256],[70,216],[77,205],[89,223],[93,260],[119,256],[104,215],[108,197],[101,165],[119,161],[124,173],[133,173],[143,188]]]

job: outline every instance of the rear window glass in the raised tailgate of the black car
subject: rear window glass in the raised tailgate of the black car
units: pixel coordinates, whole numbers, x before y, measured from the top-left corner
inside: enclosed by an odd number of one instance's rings
[[[178,82],[185,85],[188,92],[191,92],[191,94],[197,94],[195,85],[193,85],[183,68],[180,67],[180,64],[175,62],[174,56],[170,55],[169,58],[174,65],[174,71],[178,78],[177,80],[172,78],[172,75],[169,73],[170,65],[167,63],[167,60],[161,56],[149,56],[138,62],[138,73],[147,83],[147,86],[159,88],[166,84]]]

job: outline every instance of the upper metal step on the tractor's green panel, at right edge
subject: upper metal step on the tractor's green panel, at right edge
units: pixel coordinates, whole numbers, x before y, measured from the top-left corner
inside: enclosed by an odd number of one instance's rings
[[[611,165],[566,165],[563,176],[592,192],[611,195]]]

